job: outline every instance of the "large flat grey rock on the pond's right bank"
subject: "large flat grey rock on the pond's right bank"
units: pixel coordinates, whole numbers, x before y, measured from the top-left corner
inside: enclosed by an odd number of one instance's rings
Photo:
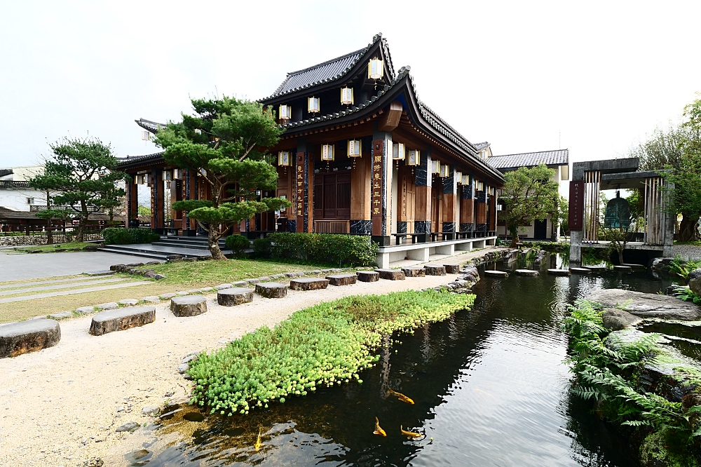
[[[691,303],[668,295],[644,294],[632,290],[604,289],[590,292],[585,299],[606,308],[621,307],[641,318],[695,321],[701,318],[701,309]]]

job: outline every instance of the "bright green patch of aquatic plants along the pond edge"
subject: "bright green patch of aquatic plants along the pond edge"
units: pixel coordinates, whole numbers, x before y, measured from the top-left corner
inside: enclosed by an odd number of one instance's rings
[[[273,329],[261,327],[226,347],[200,354],[189,374],[191,403],[211,413],[248,413],[290,395],[355,379],[379,358],[383,335],[469,309],[474,295],[428,290],[346,297],[297,311]]]

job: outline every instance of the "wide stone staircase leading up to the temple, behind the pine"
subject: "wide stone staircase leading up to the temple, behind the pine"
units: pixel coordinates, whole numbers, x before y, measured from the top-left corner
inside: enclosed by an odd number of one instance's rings
[[[224,239],[219,241],[224,255],[231,253],[226,250]],[[100,248],[102,252],[116,253],[118,255],[132,255],[149,259],[165,261],[169,256],[180,255],[184,258],[210,257],[210,249],[207,247],[206,237],[175,237],[161,236],[153,243],[136,243],[133,245],[106,245]]]

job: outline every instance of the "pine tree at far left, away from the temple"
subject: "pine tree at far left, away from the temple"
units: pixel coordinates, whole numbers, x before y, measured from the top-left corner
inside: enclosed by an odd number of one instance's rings
[[[91,212],[110,208],[124,196],[116,182],[128,175],[116,169],[117,159],[109,144],[96,138],[65,138],[50,144],[52,154],[44,163],[41,175],[29,180],[29,186],[58,191],[54,205],[67,211],[47,210],[46,216],[69,215],[79,219],[76,241],[82,242]]]

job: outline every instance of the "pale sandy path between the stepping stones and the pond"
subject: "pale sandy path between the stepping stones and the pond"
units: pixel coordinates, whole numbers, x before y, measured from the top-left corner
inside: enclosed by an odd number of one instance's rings
[[[465,262],[486,250],[451,258]],[[115,429],[150,422],[147,405],[184,398],[189,381],[177,372],[187,353],[217,348],[291,313],[348,295],[435,287],[456,276],[380,280],[309,292],[288,290],[284,299],[254,297],[224,307],[206,295],[209,311],[175,318],[170,302],[156,306],[156,322],[94,337],[90,316],[61,323],[60,344],[0,360],[0,465],[79,466],[129,436]]]

